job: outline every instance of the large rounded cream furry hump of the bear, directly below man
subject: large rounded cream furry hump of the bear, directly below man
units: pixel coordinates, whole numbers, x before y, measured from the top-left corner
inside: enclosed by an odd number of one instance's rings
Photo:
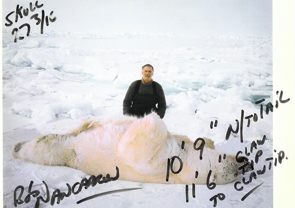
[[[156,113],[133,122],[121,137],[117,152],[125,162],[147,162],[167,139],[167,127]]]

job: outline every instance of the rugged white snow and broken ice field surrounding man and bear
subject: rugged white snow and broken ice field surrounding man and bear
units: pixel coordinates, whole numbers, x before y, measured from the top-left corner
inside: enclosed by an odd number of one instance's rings
[[[56,37],[33,34],[13,43],[3,33],[3,177],[4,207],[13,206],[13,191],[25,187],[31,180],[33,188],[44,196],[44,180],[52,193],[59,188],[66,191],[66,183],[73,185],[83,177],[79,170],[30,164],[13,158],[13,145],[46,133],[67,133],[83,121],[107,120],[122,116],[122,102],[129,84],[141,78],[141,66],[154,66],[153,79],[165,92],[167,110],[164,117],[169,131],[211,138],[216,149],[236,154],[250,149],[253,140],[266,135],[260,162],[272,156],[272,114],[265,114],[265,104],[272,100],[271,36],[165,36],[163,34],[109,34],[97,38],[93,34]],[[50,36],[50,37],[49,37]],[[162,44],[158,44],[161,42]],[[264,117],[244,120],[244,143],[239,134],[225,140],[229,124],[235,129],[235,119],[256,113],[265,98]],[[218,120],[210,129],[210,122]],[[254,160],[257,150],[249,156]],[[244,153],[243,153],[244,154]],[[217,158],[216,158],[217,159]],[[114,167],[115,168],[115,167]],[[267,169],[267,168],[266,168]],[[180,173],[181,174],[181,173]],[[245,174],[248,180],[249,173]],[[163,183],[166,176],[163,175]],[[237,181],[242,181],[240,175]],[[120,178],[119,178],[120,179]],[[272,170],[258,175],[244,190],[234,190],[234,182],[217,185],[211,191],[206,185],[196,186],[192,198],[185,202],[184,184],[150,184],[115,181],[83,189],[54,207],[93,207],[99,203],[107,207],[212,207],[209,199],[224,193],[224,201],[217,207],[271,207]],[[9,183],[8,183],[9,181]],[[256,185],[265,182],[245,201],[241,198]],[[77,205],[75,202],[93,194],[121,189],[142,189],[106,195]],[[34,206],[35,199],[22,207]],[[41,202],[40,207],[51,207]]]

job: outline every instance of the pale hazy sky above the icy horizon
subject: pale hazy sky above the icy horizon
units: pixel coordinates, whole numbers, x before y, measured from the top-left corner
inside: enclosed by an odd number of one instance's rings
[[[20,4],[29,8],[27,0],[2,1],[3,29],[19,27],[36,20],[29,17],[44,9],[45,16],[53,12],[57,21],[44,30],[101,32],[182,33],[211,35],[271,35],[272,1],[270,0],[211,0],[211,1],[62,1],[39,0],[44,6],[17,23],[6,27],[5,16]],[[15,20],[15,13],[10,16]],[[37,26],[37,25],[36,25]],[[39,25],[40,26],[40,25]]]

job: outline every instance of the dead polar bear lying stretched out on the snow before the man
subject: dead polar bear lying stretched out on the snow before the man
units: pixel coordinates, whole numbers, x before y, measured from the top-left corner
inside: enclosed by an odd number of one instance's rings
[[[184,149],[181,149],[182,141],[185,142]],[[129,181],[206,184],[209,170],[212,170],[210,182],[233,181],[241,173],[238,168],[246,161],[237,162],[235,156],[227,155],[219,163],[222,153],[214,150],[211,140],[206,139],[206,143],[211,148],[204,147],[200,160],[200,151],[194,150],[188,137],[168,133],[164,122],[152,113],[142,119],[129,118],[104,124],[90,121],[69,134],[49,134],[19,142],[13,155],[41,165],[66,165],[95,176],[107,173],[115,176],[118,166],[119,179]],[[179,174],[170,172],[166,182],[167,159],[172,156],[181,158],[183,169]],[[179,165],[175,160],[174,171]],[[195,171],[198,171],[197,179]]]

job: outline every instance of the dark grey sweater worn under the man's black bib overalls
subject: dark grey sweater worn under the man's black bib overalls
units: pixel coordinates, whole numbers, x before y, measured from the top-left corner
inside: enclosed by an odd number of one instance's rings
[[[123,114],[129,114],[131,110],[132,105],[132,98],[134,97],[134,89],[136,87],[138,80],[132,82],[127,90],[127,93],[125,95],[124,101],[123,101]],[[166,100],[165,95],[162,86],[152,81],[156,84],[157,88],[157,103],[158,103],[158,112],[157,114],[162,119],[166,112]],[[152,82],[149,82],[147,84],[140,83],[138,94],[153,94],[153,88],[152,88]]]

